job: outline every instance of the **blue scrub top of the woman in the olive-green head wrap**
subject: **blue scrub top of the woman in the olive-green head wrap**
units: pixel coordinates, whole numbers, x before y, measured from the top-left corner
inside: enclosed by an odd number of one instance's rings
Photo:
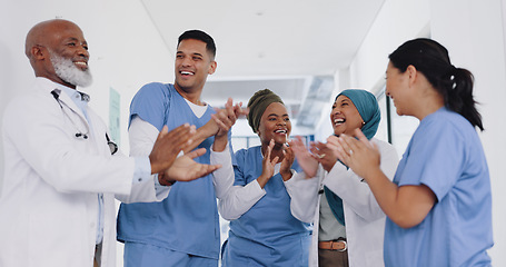
[[[261,147],[236,154],[235,186],[246,186],[262,171]],[[301,171],[297,162],[291,169]],[[264,187],[266,195],[240,218],[230,221],[224,266],[307,266],[310,226],[290,211],[290,197],[281,175]]]

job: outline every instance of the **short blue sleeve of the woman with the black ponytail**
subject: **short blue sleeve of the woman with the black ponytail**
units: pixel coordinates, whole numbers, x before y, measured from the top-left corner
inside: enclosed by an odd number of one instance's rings
[[[441,200],[457,182],[464,162],[464,139],[449,120],[434,119],[414,136],[399,186],[426,185]],[[421,125],[420,125],[421,127]]]

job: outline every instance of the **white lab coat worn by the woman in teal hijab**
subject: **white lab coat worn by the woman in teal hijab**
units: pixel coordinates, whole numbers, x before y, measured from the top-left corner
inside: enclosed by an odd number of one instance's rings
[[[380,168],[393,179],[397,169],[398,156],[394,147],[373,138],[381,155]],[[373,192],[363,179],[351,169],[339,162],[327,174],[319,168],[318,175],[309,179],[296,176],[286,184],[294,205],[291,214],[302,220],[314,222],[312,240],[309,250],[309,266],[318,266],[318,225],[320,196],[318,190],[327,186],[343,199],[345,211],[348,260],[350,267],[384,266],[383,241],[385,233],[385,214],[379,208]],[[291,179],[290,179],[291,180]]]

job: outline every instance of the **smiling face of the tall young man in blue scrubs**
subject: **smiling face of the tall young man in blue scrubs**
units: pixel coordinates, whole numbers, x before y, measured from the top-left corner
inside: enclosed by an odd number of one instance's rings
[[[185,92],[200,91],[208,75],[215,73],[216,61],[206,49],[206,42],[185,39],[176,53],[176,82],[178,90]]]

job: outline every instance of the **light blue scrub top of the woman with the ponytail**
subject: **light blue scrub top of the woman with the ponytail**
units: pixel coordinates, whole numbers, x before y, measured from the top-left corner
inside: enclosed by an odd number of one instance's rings
[[[437,202],[408,229],[387,218],[386,266],[490,266],[490,179],[479,137],[464,117],[441,108],[424,118],[394,182],[426,185]]]

